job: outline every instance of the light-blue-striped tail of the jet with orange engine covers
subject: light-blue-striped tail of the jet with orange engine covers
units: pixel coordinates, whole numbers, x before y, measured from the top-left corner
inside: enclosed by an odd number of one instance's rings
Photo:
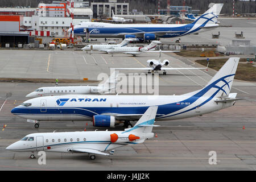
[[[155,115],[158,111],[158,106],[150,106],[142,115],[139,121],[131,128],[125,129],[125,133],[151,133],[155,122]]]

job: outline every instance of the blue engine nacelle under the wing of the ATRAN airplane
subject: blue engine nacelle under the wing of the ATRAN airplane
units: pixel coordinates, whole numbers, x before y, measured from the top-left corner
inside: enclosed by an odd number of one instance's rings
[[[93,115],[93,126],[115,127],[115,117],[112,115]]]

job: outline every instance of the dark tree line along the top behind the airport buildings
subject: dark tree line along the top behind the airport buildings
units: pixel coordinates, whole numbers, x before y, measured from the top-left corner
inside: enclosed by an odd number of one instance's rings
[[[1,0],[0,7],[38,7],[40,2],[52,3],[53,0]],[[91,2],[108,2],[108,0],[89,0]],[[117,2],[129,3],[129,11],[137,9],[137,11],[143,11],[144,14],[151,14],[158,12],[158,0],[118,0]],[[183,0],[171,0],[171,6],[183,6]],[[186,0],[185,6],[191,6],[192,10],[200,10],[200,13],[204,13],[208,10],[209,3],[224,3],[221,10],[221,14],[232,14],[233,1],[232,0]],[[256,1],[235,1],[235,12],[241,13],[256,13]],[[160,0],[160,9],[166,9],[167,0]]]

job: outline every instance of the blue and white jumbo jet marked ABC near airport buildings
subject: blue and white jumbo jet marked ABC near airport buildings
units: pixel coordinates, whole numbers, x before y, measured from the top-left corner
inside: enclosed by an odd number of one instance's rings
[[[73,34],[92,38],[137,38],[157,40],[174,38],[219,27],[217,18],[223,4],[214,4],[208,11],[190,24],[112,24],[100,22],[81,22],[74,26]],[[68,30],[69,33],[72,29]]]

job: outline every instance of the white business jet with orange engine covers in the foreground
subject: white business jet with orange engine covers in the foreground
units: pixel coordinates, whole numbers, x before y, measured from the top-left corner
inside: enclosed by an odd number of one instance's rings
[[[63,133],[34,133],[26,135],[18,142],[8,146],[6,150],[14,152],[68,152],[88,153],[90,159],[95,154],[109,155],[114,148],[131,144],[143,143],[144,140],[154,137],[154,125],[158,106],[148,107],[136,125],[125,131],[80,131]],[[110,153],[107,151],[112,150]],[[34,154],[30,158],[35,158]]]

